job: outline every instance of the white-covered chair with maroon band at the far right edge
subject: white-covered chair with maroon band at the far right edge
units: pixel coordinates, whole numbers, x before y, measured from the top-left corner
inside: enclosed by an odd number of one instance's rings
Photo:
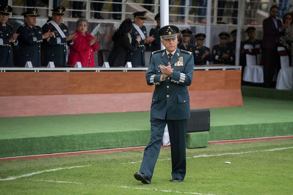
[[[278,47],[281,69],[278,73],[276,89],[293,89],[293,67],[289,65],[289,56],[284,47]]]

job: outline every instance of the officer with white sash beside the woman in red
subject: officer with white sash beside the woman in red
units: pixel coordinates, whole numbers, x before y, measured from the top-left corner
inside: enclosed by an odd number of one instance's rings
[[[54,32],[53,36],[44,39],[44,65],[48,62],[54,62],[56,66],[64,66],[67,63],[67,48],[73,44],[76,34],[69,34],[68,28],[62,23],[65,8],[62,6],[56,7],[52,11],[52,20],[42,27],[43,33]]]

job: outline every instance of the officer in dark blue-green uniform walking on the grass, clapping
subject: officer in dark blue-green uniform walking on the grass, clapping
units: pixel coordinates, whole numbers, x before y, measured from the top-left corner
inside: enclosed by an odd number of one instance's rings
[[[190,118],[188,86],[193,79],[193,55],[177,48],[178,27],[167,25],[159,30],[164,50],[152,52],[146,73],[148,85],[155,90],[151,101],[151,139],[144,149],[136,180],[150,184],[168,124],[171,142],[172,179],[183,181],[186,173],[186,125]]]

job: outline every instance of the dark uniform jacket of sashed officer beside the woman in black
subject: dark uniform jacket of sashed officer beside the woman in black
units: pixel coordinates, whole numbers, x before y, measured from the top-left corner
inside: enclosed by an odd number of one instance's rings
[[[145,26],[142,26],[140,28],[142,32],[144,33],[144,36],[147,37],[147,29]],[[132,31],[130,33],[133,44],[134,41],[136,41],[136,36],[139,35],[138,31],[132,27]],[[139,42],[139,46],[135,51],[129,51],[126,55],[125,63],[131,62],[133,67],[139,67],[144,66],[144,40],[141,40]],[[124,63],[124,64],[125,64]]]

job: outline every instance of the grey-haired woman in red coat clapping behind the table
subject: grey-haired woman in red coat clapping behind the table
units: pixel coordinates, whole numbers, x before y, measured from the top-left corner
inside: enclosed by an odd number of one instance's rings
[[[77,38],[74,39],[73,44],[69,47],[70,53],[68,55],[67,65],[74,66],[76,62],[81,62],[83,67],[95,67],[94,52],[98,50],[99,37],[88,34],[88,20],[80,18],[76,22]]]

